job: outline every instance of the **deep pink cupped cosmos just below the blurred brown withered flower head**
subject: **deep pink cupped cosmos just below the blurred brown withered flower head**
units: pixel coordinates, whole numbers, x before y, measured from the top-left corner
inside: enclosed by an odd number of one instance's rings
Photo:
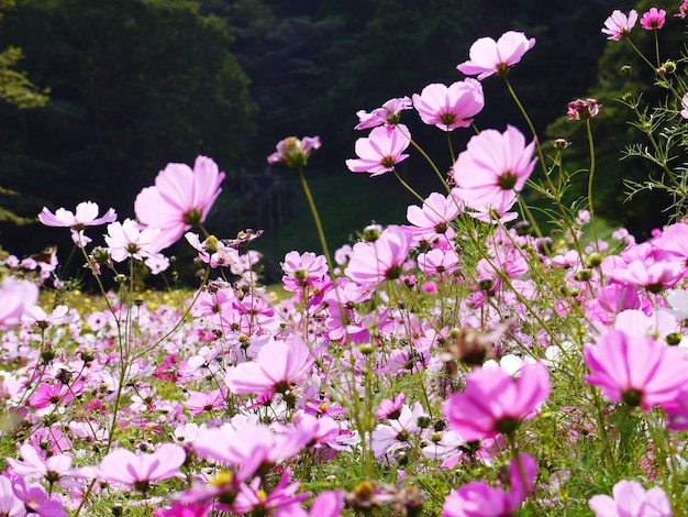
[[[466,388],[444,402],[450,427],[466,441],[513,432],[550,396],[550,374],[542,363],[523,366],[518,378],[501,369],[477,369]]]

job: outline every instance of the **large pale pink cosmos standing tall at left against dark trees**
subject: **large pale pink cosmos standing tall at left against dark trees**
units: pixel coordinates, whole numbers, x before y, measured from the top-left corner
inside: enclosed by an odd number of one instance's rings
[[[193,169],[186,164],[170,163],[144,188],[134,201],[136,218],[143,224],[159,228],[151,248],[163,250],[184,233],[206,220],[222,191],[224,173],[206,156],[198,156]]]

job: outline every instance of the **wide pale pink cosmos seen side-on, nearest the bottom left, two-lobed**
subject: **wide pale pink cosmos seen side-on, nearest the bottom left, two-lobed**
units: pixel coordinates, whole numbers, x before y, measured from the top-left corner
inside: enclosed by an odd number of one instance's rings
[[[145,493],[152,482],[175,476],[186,458],[185,450],[174,443],[163,443],[149,454],[115,449],[100,461],[98,479]]]

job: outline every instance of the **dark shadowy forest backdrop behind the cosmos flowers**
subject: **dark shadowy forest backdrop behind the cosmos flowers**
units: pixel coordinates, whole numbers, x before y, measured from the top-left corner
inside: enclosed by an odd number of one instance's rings
[[[320,135],[309,182],[329,242],[339,246],[376,220],[403,223],[413,202],[393,177],[369,178],[346,169],[354,156],[356,111],[391,97],[411,97],[431,82],[463,79],[456,65],[478,37],[508,30],[537,40],[510,75],[541,140],[565,138],[572,170],[585,169],[588,147],[580,124],[565,121],[566,105],[596,97],[602,112],[597,142],[596,215],[625,226],[639,240],[666,222],[662,193],[624,202],[624,178],[653,173],[650,163],[620,161],[640,133],[614,99],[646,92],[652,70],[626,45],[607,42],[602,21],[614,9],[676,8],[676,2],[629,0],[15,0],[4,9],[0,50],[23,52],[16,68],[41,91],[45,106],[0,102],[0,185],[18,193],[0,205],[34,219],[43,206],[73,209],[82,200],[133,216],[133,199],[169,162],[211,156],[228,173],[207,229],[231,238],[265,229],[256,248],[267,279],[278,278],[290,250],[319,251],[298,178],[270,169],[266,156],[288,135]],[[0,8],[1,9],[1,8]],[[668,19],[667,24],[680,23]],[[644,31],[643,31],[644,32]],[[662,31],[659,37],[681,31]],[[652,55],[647,33],[634,42]],[[623,66],[624,73],[621,73]],[[484,81],[479,129],[528,127],[503,81]],[[661,95],[659,91],[657,95]],[[437,165],[448,169],[446,138],[412,112],[402,119]],[[470,130],[451,134],[460,151]],[[546,142],[545,147],[546,147]],[[547,147],[546,147],[547,148]],[[548,147],[551,148],[551,146]],[[400,174],[419,191],[440,185],[420,157]],[[579,175],[581,196],[587,176]],[[599,201],[598,201],[599,200]],[[529,199],[537,204],[537,199]],[[18,255],[55,241],[40,224],[0,223],[0,245]],[[187,250],[188,249],[188,250]],[[190,254],[181,243],[170,253]]]

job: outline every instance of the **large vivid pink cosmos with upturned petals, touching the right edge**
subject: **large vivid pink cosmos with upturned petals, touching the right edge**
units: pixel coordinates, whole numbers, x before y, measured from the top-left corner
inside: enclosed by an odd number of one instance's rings
[[[641,406],[645,413],[673,405],[688,383],[686,353],[651,337],[610,330],[582,355],[590,370],[587,383],[611,402]]]

